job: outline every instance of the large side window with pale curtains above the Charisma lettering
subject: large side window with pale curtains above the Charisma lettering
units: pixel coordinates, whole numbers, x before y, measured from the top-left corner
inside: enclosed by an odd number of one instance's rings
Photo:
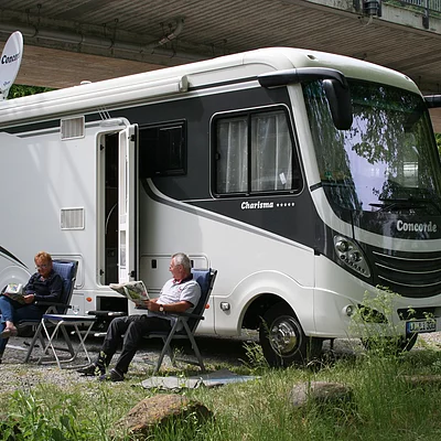
[[[300,169],[283,110],[218,117],[215,125],[215,193],[299,190]]]

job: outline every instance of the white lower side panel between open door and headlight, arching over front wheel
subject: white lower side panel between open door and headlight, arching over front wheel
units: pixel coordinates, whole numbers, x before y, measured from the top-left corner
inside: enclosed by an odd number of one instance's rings
[[[142,195],[140,218],[147,218],[149,223],[149,227],[140,232],[140,276],[147,281],[149,292],[155,292],[163,280],[155,280],[150,260],[161,250],[169,250],[170,256],[176,243],[192,259],[196,257],[195,266],[212,266],[218,270],[213,300],[205,312],[206,320],[200,324],[200,332],[239,335],[247,306],[266,292],[295,304],[305,327],[315,327],[311,313],[314,287],[311,249],[222,215],[197,208],[189,211],[184,204],[170,206]],[[185,230],[184,237],[181,228]],[[143,256],[143,249],[150,255]],[[239,256],[237,260],[236,256]],[[169,258],[164,260],[164,269],[165,266],[168,269]],[[162,275],[165,276],[165,270]],[[149,284],[150,281],[157,281],[157,284]],[[222,302],[227,302],[230,309],[222,311]]]

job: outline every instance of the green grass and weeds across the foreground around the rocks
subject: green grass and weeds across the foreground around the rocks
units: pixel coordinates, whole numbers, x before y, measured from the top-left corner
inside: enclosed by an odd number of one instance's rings
[[[266,366],[257,346],[247,347],[247,363],[232,370],[257,375],[251,381],[220,388],[185,390],[214,413],[203,426],[183,421],[159,428],[151,440],[399,440],[441,439],[441,384],[410,386],[405,375],[441,374],[441,352],[419,345],[401,355],[358,352],[323,359],[320,368]],[[215,368],[215,366],[211,366]],[[225,367],[225,366],[223,366]],[[173,373],[175,374],[175,373]],[[111,440],[115,422],[136,404],[159,390],[139,386],[144,376],[119,384],[86,383],[71,389],[42,385],[0,394],[9,419],[1,440]],[[290,391],[298,383],[326,380],[348,385],[353,400],[309,404],[295,409]],[[20,434],[13,434],[19,427]],[[128,435],[122,438],[130,440]]]

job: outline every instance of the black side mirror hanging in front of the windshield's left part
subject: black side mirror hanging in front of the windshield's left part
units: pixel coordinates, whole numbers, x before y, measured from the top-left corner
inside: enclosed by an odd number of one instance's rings
[[[349,130],[353,120],[349,88],[335,79],[323,79],[323,88],[334,126],[338,130]]]

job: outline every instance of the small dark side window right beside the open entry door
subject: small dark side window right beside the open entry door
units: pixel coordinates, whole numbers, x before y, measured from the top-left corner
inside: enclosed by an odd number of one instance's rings
[[[186,173],[185,121],[139,128],[140,178]]]

